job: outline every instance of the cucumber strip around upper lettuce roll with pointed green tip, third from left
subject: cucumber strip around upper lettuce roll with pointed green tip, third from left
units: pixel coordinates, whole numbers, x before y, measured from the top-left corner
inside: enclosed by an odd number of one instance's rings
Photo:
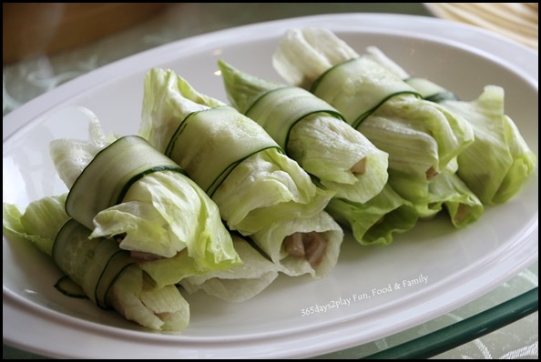
[[[248,108],[245,115],[259,123],[279,146],[287,149],[293,126],[305,116],[319,112],[345,121],[327,102],[307,90],[289,86],[266,92]]]

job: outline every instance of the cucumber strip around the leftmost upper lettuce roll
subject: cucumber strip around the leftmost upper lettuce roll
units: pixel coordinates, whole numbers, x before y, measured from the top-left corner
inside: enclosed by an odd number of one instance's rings
[[[66,213],[90,229],[102,210],[122,202],[139,178],[151,172],[184,171],[139,136],[124,136],[101,150],[88,164],[66,199]]]

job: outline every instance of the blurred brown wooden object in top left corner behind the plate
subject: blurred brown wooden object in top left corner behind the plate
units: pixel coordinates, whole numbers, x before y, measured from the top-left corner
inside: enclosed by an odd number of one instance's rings
[[[137,25],[163,3],[3,4],[3,64],[50,55]]]

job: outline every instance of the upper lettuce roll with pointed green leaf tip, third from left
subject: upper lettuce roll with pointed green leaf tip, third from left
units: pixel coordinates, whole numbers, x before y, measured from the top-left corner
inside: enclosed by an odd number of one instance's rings
[[[219,69],[231,104],[259,123],[335,197],[364,203],[382,191],[388,155],[332,106],[300,87],[263,80],[222,60]]]

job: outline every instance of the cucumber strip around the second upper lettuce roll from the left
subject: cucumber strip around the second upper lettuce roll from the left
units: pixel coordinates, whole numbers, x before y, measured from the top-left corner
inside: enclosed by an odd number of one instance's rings
[[[189,177],[212,197],[235,166],[268,148],[283,152],[255,121],[235,108],[219,106],[184,118],[169,141],[166,155],[187,169]]]

